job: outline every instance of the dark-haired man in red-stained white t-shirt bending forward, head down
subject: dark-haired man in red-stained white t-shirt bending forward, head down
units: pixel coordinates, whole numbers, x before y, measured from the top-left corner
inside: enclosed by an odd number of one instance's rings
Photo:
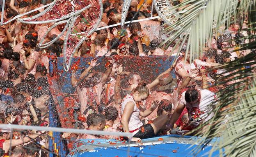
[[[207,122],[213,117],[211,104],[215,101],[216,95],[211,91],[206,89],[188,89],[181,94],[179,104],[171,116],[167,128],[173,128],[174,123],[185,107],[187,108],[189,118],[189,124],[185,127],[185,130],[192,130],[199,126],[199,124]]]

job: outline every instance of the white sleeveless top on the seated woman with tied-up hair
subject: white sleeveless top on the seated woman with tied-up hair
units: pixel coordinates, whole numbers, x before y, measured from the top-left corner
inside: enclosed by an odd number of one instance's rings
[[[132,131],[141,127],[143,124],[139,119],[139,112],[140,112],[139,108],[136,106],[136,103],[133,100],[133,97],[129,94],[126,95],[126,97],[124,97],[123,101],[121,102],[121,116],[123,115],[123,110],[128,102],[133,102],[135,104],[133,108],[133,113],[130,116],[129,124],[128,124],[129,131]],[[137,132],[139,132],[139,130],[136,130],[135,132],[133,132],[133,135],[135,135]]]

